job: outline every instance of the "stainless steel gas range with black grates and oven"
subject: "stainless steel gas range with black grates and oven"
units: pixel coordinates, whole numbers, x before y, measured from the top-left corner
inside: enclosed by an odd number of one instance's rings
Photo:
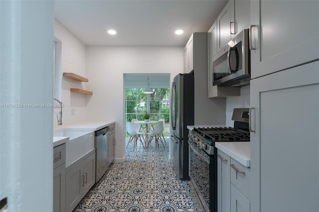
[[[215,142],[249,141],[249,108],[235,108],[234,127],[194,127],[188,134],[190,194],[197,212],[217,212]]]

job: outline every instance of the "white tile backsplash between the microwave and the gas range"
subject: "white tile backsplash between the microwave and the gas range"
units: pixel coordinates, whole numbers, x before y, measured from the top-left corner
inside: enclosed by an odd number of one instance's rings
[[[228,97],[226,99],[226,125],[234,126],[234,121],[231,120],[234,108],[250,106],[250,86],[240,88],[240,96]]]

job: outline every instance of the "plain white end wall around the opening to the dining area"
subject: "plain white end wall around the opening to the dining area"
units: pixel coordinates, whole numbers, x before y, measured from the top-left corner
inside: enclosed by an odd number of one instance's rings
[[[116,121],[116,162],[125,160],[124,79],[125,73],[183,72],[183,47],[87,47],[88,120]]]

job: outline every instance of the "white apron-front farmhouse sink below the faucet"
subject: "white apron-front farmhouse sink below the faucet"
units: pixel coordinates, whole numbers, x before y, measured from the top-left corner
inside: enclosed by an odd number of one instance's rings
[[[94,149],[94,131],[77,131],[62,128],[53,131],[54,137],[69,137],[66,142],[65,167]]]

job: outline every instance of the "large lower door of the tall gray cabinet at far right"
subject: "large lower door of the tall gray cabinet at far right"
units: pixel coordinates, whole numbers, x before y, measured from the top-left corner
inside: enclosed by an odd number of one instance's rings
[[[251,209],[319,209],[319,61],[251,81]]]

